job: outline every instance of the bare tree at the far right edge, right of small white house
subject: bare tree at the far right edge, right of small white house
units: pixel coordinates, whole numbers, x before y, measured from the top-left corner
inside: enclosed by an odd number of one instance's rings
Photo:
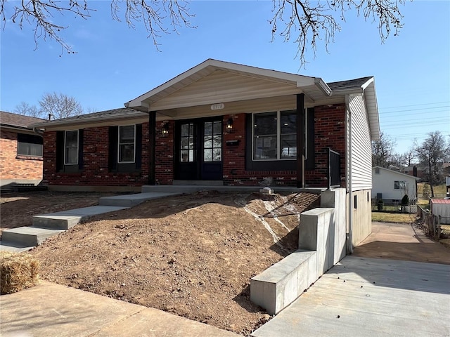
[[[422,144],[414,141],[414,151],[421,163],[428,167],[428,183],[430,183],[431,197],[435,197],[433,186],[439,183],[442,173],[442,164],[450,157],[450,143],[447,143],[442,133],[434,131],[428,133]]]

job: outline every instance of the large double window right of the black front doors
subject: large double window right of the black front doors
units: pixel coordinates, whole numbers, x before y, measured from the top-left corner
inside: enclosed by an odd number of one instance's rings
[[[297,112],[253,114],[253,160],[297,159]]]

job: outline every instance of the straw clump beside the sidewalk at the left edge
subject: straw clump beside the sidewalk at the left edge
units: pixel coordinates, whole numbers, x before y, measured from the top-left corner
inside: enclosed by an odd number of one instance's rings
[[[15,293],[38,281],[39,262],[28,253],[0,251],[0,293]]]

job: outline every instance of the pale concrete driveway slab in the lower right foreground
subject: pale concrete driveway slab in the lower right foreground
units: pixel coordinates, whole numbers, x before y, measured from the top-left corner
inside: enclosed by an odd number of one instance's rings
[[[347,256],[252,336],[450,336],[450,266]]]

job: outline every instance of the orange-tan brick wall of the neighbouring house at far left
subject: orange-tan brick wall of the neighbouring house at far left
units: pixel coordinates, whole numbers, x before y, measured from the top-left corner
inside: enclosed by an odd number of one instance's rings
[[[0,179],[41,180],[42,158],[17,155],[17,132],[0,130]]]

